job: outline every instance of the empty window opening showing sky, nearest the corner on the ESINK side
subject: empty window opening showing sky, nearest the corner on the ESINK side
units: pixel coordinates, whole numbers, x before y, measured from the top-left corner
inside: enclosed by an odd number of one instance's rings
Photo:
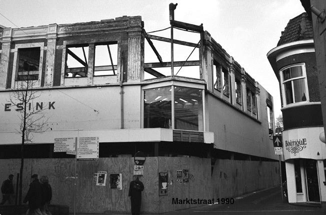
[[[118,62],[118,44],[95,45],[94,76],[115,75]]]

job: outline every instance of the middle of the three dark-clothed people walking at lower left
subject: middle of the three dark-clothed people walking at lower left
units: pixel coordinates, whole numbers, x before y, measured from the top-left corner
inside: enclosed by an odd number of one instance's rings
[[[43,215],[40,207],[42,203],[42,185],[39,181],[38,174],[32,175],[32,183],[24,198],[24,203],[29,202],[29,209],[26,215]]]

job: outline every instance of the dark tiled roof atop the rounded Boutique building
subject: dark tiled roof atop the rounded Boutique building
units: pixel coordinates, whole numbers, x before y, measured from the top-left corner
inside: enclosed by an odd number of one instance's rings
[[[288,21],[278,40],[277,46],[304,39],[313,39],[312,22],[308,19],[306,12]]]

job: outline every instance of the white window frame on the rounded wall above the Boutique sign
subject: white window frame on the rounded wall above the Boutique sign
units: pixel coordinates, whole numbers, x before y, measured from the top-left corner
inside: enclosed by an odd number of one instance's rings
[[[293,66],[301,66],[301,69],[302,69],[302,76],[300,77],[294,77],[294,78],[290,78],[290,79],[287,79],[287,80],[283,80],[283,70],[287,69],[287,68],[290,68],[290,67],[293,67]],[[296,64],[291,64],[291,65],[287,65],[283,68],[281,68],[279,70],[279,77],[280,77],[280,83],[281,83],[281,90],[282,90],[282,101],[283,101],[283,107],[290,107],[290,106],[296,106],[296,105],[301,105],[301,104],[304,104],[304,103],[308,103],[309,102],[309,91],[308,91],[308,84],[307,84],[307,75],[306,75],[306,70],[305,70],[305,63],[296,63]],[[294,86],[293,84],[292,85],[292,96],[293,96],[293,103],[290,103],[290,104],[286,104],[286,95],[285,95],[285,87],[284,87],[284,83],[285,82],[288,82],[288,81],[293,81],[295,79],[304,79],[304,87],[305,87],[305,97],[306,97],[306,100],[305,101],[298,101],[298,102],[295,102],[295,95],[294,95]]]

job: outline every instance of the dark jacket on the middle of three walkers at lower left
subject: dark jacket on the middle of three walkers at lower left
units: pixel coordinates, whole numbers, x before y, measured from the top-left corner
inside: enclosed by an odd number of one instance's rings
[[[30,184],[29,191],[27,192],[24,202],[29,202],[29,207],[31,209],[36,209],[41,207],[42,203],[42,185],[39,179],[34,180]]]

